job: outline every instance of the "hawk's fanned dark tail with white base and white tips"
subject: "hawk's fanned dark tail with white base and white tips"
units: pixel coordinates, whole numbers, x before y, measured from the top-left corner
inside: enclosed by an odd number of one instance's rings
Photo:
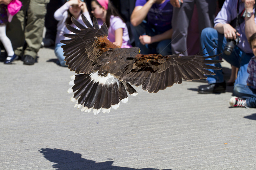
[[[71,101],[77,100],[75,107],[82,108],[81,111],[90,112],[93,109],[94,114],[98,114],[101,110],[103,113],[108,113],[111,107],[113,109],[119,107],[120,100],[128,101],[124,85],[111,74],[102,77],[98,72],[93,72],[77,74],[71,79],[69,84],[72,87],[68,89],[68,93],[75,92]]]

